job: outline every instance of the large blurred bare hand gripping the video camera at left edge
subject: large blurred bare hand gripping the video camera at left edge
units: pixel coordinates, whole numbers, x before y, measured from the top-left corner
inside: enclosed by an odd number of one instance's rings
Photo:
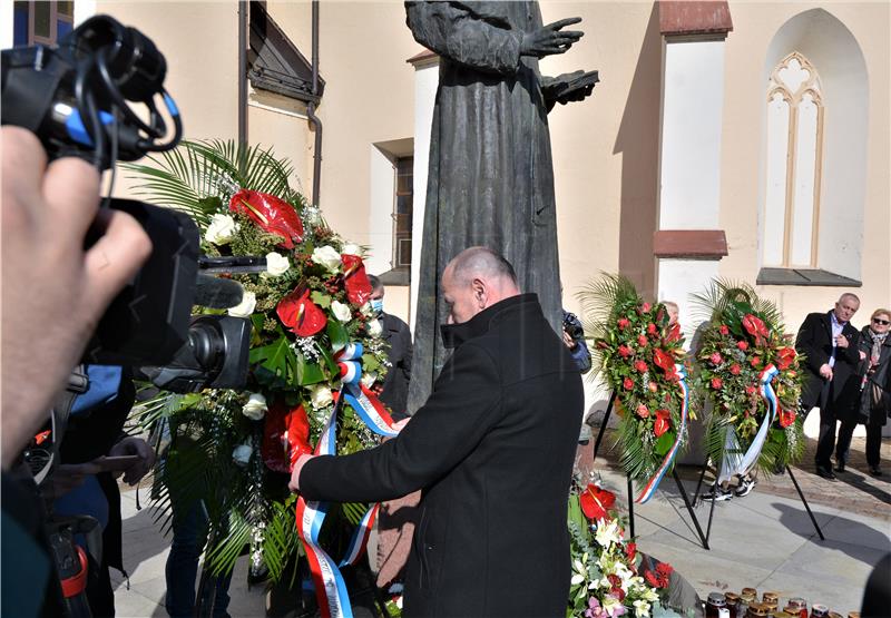
[[[99,174],[2,127],[2,461],[46,420],[108,304],[151,253],[141,226],[99,213]],[[92,226],[99,239],[84,248]]]

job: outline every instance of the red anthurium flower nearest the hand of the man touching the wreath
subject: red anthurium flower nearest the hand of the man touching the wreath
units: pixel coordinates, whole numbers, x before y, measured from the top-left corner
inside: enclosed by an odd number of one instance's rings
[[[263,425],[261,454],[266,468],[287,474],[301,454],[312,452],[310,421],[303,405],[288,409],[284,402],[274,401]]]

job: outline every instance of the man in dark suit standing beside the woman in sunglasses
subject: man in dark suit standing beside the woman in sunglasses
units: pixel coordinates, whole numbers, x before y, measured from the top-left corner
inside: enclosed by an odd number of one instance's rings
[[[845,406],[853,404],[858,352],[856,328],[850,321],[860,308],[856,295],[844,293],[828,313],[811,313],[804,318],[795,340],[795,350],[804,354],[804,388],[800,411],[802,418],[820,406],[820,438],[816,445],[816,473],[834,481],[832,451],[835,447],[835,422]]]

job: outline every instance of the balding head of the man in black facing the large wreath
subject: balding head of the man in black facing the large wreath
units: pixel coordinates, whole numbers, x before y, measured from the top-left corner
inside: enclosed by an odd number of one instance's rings
[[[487,247],[458,254],[442,273],[449,323],[467,322],[479,312],[520,293],[510,262]]]

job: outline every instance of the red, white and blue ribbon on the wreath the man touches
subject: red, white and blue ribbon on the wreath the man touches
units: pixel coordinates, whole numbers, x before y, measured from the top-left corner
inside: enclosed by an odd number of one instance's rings
[[[392,426],[393,420],[378,398],[362,385],[362,364],[360,362],[362,353],[362,344],[350,343],[335,354],[343,384],[343,400],[355,410],[369,429],[380,435],[392,438],[399,434],[399,431]],[[325,429],[322,431],[322,436],[315,449],[315,454],[317,455],[337,454],[337,411],[342,402],[339,401],[339,393],[334,393],[334,398],[337,404],[334,406],[327,423],[325,423]],[[327,503],[307,502],[303,498],[297,499],[297,532],[306,549],[306,558],[310,562],[310,572],[315,585],[319,610],[323,618],[352,618],[353,610],[350,605],[350,597],[339,567],[355,565],[362,557],[371,529],[374,526],[374,520],[378,517],[379,508],[380,504],[372,506],[362,517],[353,532],[343,560],[341,560],[340,565],[336,565],[325,550],[319,546],[319,531],[322,529],[322,522],[327,513]]]

